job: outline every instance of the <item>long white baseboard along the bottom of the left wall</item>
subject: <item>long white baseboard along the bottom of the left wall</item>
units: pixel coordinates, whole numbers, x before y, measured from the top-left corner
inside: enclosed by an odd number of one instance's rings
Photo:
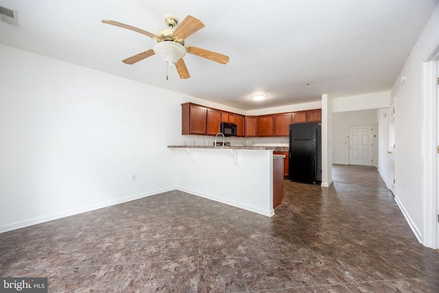
[[[99,202],[99,204],[92,204],[92,205],[89,205],[86,207],[80,207],[78,209],[71,209],[68,211],[62,211],[60,213],[53,213],[51,215],[43,215],[40,217],[36,217],[36,218],[28,219],[28,220],[23,220],[21,222],[15,222],[12,224],[1,226],[0,233],[12,231],[12,230],[19,229],[19,228],[24,228],[27,226],[32,226],[35,224],[41,224],[41,223],[49,222],[52,220],[58,220],[60,218],[69,217],[71,215],[78,215],[79,213],[85,213],[87,211],[94,211],[96,209],[110,207],[112,205],[121,204],[123,202],[130,202],[132,200],[139,200],[140,198],[145,198],[147,196],[154,196],[155,194],[161,194],[163,192],[167,192],[167,191],[171,191],[171,190],[175,190],[175,189],[176,189],[175,187],[157,189],[155,191],[149,191],[149,192],[145,192],[143,194],[134,194],[131,196],[126,196],[125,198],[118,198],[116,200],[108,200],[106,202]]]

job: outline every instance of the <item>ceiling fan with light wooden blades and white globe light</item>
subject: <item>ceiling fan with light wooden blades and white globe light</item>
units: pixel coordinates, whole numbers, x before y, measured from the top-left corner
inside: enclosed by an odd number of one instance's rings
[[[183,60],[183,57],[186,55],[186,53],[213,60],[221,64],[226,64],[228,62],[228,56],[198,47],[185,46],[185,38],[204,27],[204,23],[190,15],[186,16],[178,27],[176,27],[177,19],[174,16],[165,16],[165,23],[168,25],[168,28],[160,30],[157,35],[131,25],[119,23],[117,21],[103,20],[102,23],[123,27],[127,30],[132,30],[140,34],[144,34],[145,36],[149,36],[157,41],[157,44],[153,49],[143,51],[139,54],[122,60],[124,63],[129,65],[139,62],[154,54],[158,54],[163,58],[163,60],[169,62],[169,64],[175,64],[178,75],[180,75],[180,78],[185,79],[191,77],[191,75],[189,75],[189,71],[187,70],[185,61]],[[176,27],[175,30],[174,27]]]

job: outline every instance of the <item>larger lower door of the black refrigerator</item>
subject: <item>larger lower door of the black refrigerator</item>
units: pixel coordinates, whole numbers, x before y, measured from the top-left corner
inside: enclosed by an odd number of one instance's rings
[[[317,150],[315,140],[291,140],[289,179],[301,183],[317,183]]]

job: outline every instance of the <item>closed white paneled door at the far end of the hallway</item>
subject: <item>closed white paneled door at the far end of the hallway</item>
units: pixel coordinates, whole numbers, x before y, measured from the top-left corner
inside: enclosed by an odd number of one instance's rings
[[[372,165],[372,126],[349,126],[349,165]]]

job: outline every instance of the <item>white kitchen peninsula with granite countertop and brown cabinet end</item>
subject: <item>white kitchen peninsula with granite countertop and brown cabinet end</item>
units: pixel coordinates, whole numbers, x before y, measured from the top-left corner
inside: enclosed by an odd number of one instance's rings
[[[283,155],[275,147],[169,145],[178,189],[261,215],[274,215],[283,196]]]

